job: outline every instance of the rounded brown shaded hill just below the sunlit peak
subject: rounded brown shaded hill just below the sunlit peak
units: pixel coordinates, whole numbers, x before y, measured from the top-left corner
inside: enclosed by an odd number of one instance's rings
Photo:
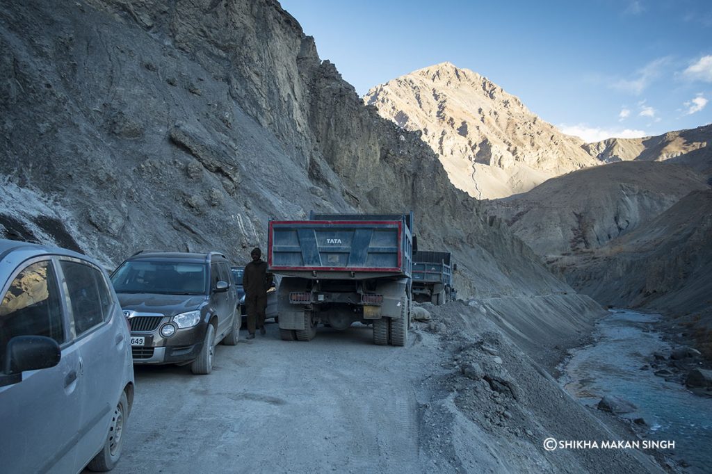
[[[528,193],[485,203],[549,263],[634,231],[690,191],[709,189],[679,165],[624,162],[550,179]]]

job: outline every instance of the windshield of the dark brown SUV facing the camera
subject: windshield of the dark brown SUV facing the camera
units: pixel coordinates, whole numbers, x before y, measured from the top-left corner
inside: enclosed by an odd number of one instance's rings
[[[116,293],[205,295],[207,268],[203,263],[124,262],[111,275]]]

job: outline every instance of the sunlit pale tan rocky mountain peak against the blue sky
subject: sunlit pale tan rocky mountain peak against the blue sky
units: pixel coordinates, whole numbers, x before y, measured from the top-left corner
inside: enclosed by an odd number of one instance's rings
[[[364,101],[404,130],[422,134],[450,180],[478,199],[529,191],[546,179],[592,167],[576,137],[471,70],[441,63],[369,90]]]

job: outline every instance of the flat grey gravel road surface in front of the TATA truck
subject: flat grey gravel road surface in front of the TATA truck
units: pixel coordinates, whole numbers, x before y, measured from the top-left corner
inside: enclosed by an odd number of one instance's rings
[[[372,344],[369,327],[320,327],[311,342],[267,335],[219,345],[213,373],[136,367],[135,405],[114,473],[419,472],[417,406],[436,336]]]

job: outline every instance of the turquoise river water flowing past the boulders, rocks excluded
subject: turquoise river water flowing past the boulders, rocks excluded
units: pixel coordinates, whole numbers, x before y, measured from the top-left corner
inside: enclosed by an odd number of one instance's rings
[[[654,330],[659,315],[611,310],[598,322],[596,342],[577,349],[562,364],[560,381],[588,406],[605,395],[618,396],[638,407],[626,418],[644,418],[644,439],[674,441],[674,449],[660,450],[690,473],[712,471],[712,399],[696,396],[685,386],[641,370],[654,352],[669,354],[670,344]],[[661,364],[660,369],[666,368]]]

